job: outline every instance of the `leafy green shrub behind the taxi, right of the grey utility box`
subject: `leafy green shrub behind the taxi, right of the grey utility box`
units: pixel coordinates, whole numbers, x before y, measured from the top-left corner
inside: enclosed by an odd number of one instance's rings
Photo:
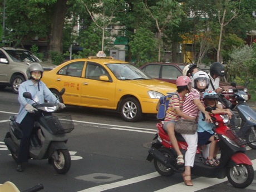
[[[129,43],[129,46],[138,66],[145,62],[157,60],[156,40],[149,29],[137,29],[132,38],[133,40]]]

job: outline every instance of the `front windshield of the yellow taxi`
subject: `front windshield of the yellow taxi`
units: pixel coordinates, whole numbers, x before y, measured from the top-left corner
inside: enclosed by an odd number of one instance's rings
[[[139,68],[128,63],[110,63],[106,65],[119,80],[150,80],[151,77],[146,75]]]

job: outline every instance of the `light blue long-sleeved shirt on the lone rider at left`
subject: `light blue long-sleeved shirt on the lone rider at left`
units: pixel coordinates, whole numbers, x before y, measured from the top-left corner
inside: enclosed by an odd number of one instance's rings
[[[38,85],[39,85],[39,89],[38,89]],[[60,102],[57,100],[57,98],[53,95],[53,93],[48,89],[48,87],[42,81],[37,82],[36,85],[33,83],[32,80],[24,81],[19,86],[18,101],[19,101],[19,104],[21,104],[21,106],[19,107],[19,112],[16,119],[16,122],[18,122],[19,124],[27,115],[27,110],[25,109],[25,105],[27,104],[32,105],[35,103],[31,99],[26,99],[25,97],[23,97],[23,92],[30,92],[32,95],[32,99],[33,100],[36,99],[39,104],[43,104],[45,100],[50,102]]]

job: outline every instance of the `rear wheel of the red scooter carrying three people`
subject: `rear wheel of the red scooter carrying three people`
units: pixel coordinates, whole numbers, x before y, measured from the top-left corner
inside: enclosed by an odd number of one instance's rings
[[[166,149],[165,147],[161,147],[159,149],[161,153],[164,154],[166,157],[170,157],[171,159],[175,159],[174,154],[170,151],[170,149]],[[171,176],[174,174],[174,170],[171,168],[166,167],[165,165],[161,164],[160,161],[154,159],[154,166],[156,171],[163,176]]]

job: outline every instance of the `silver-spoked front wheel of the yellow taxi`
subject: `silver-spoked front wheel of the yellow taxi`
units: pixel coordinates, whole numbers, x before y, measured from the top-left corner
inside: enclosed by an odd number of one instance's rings
[[[142,119],[140,102],[134,97],[128,97],[121,102],[121,116],[125,121],[136,122]]]

